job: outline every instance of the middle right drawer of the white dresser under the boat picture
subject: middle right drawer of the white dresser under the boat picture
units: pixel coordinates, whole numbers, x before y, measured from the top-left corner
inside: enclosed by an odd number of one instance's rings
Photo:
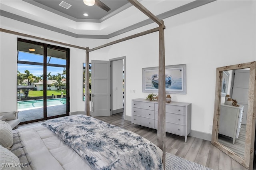
[[[155,119],[158,120],[158,112],[157,111],[155,111]],[[186,115],[166,113],[165,121],[169,122],[169,123],[176,123],[179,125],[186,125]]]

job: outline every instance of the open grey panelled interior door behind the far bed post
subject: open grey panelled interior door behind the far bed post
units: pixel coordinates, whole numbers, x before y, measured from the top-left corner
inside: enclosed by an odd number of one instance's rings
[[[110,116],[110,61],[92,60],[91,115]]]

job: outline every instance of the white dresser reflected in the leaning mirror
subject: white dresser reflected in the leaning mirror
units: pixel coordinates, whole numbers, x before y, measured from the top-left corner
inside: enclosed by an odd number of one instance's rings
[[[233,138],[233,144],[240,133],[243,112],[244,106],[220,105],[219,134]]]

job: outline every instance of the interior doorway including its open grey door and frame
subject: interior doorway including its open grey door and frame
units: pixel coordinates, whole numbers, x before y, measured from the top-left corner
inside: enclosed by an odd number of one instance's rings
[[[125,57],[92,60],[91,79],[92,117],[125,115]]]

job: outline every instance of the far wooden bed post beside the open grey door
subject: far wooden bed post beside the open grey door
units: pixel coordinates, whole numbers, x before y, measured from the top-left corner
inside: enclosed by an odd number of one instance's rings
[[[84,91],[84,111],[87,116],[90,116],[90,91],[89,91],[89,47],[86,47],[85,59],[85,91]]]

